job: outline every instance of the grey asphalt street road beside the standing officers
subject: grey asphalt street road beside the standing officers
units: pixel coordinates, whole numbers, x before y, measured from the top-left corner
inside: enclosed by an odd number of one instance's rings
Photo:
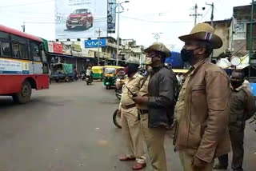
[[[118,161],[125,149],[121,129],[112,122],[117,107],[114,90],[106,90],[102,82],[54,83],[35,91],[26,105],[0,97],[0,171],[132,170],[133,161]],[[256,162],[253,129],[247,126],[245,136],[244,169],[249,171]],[[170,137],[168,170],[179,171]]]

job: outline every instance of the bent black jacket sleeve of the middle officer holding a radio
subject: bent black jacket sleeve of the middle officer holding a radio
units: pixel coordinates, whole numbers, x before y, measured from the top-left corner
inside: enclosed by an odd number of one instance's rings
[[[159,96],[149,97],[148,106],[154,108],[169,108],[174,105],[174,79],[171,74],[162,74],[159,77]]]

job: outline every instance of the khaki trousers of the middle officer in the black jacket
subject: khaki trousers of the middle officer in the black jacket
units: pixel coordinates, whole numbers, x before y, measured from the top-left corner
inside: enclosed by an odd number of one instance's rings
[[[149,128],[148,114],[140,114],[142,125],[142,136],[146,141],[146,147],[150,156],[150,164],[153,171],[166,171],[166,153],[164,140],[166,129]]]

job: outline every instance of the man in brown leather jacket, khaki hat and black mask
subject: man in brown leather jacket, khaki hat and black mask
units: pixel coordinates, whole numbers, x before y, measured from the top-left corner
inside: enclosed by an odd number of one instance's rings
[[[191,67],[175,106],[175,150],[183,170],[211,171],[214,157],[230,152],[230,81],[224,70],[206,61],[213,49],[222,47],[222,39],[206,23],[179,39],[185,42],[182,60]]]

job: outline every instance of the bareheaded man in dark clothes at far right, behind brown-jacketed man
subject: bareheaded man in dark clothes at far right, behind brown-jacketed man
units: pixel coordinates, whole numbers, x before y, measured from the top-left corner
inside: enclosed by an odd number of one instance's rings
[[[254,96],[242,85],[245,81],[240,70],[234,70],[230,85],[230,140],[233,151],[232,169],[242,171],[243,139],[246,120],[250,119],[256,111]],[[227,169],[228,154],[218,157],[219,164],[214,169]]]

